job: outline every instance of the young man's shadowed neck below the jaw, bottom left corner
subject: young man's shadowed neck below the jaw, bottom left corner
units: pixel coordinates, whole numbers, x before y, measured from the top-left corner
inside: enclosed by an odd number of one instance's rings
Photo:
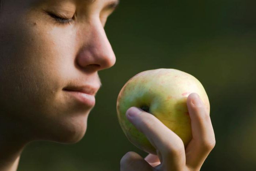
[[[22,126],[14,120],[8,120],[0,115],[0,170],[16,171],[20,155],[28,141],[25,141]]]

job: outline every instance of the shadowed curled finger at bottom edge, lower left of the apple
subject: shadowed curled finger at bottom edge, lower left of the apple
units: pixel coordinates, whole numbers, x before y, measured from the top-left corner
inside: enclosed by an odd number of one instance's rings
[[[120,161],[121,171],[155,171],[146,160],[135,152],[126,153]]]

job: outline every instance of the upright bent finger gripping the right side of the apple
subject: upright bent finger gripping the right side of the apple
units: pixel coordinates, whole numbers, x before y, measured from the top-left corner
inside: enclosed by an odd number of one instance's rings
[[[191,118],[192,140],[186,148],[186,163],[193,168],[200,168],[215,146],[214,130],[210,113],[199,95],[188,96],[187,106]]]

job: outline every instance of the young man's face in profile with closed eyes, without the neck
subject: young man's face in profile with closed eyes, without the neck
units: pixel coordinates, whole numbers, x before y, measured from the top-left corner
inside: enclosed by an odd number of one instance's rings
[[[21,136],[63,143],[83,137],[101,86],[98,71],[116,61],[104,31],[116,3],[3,1],[0,108],[26,130],[16,130]],[[82,89],[86,94],[75,93]]]

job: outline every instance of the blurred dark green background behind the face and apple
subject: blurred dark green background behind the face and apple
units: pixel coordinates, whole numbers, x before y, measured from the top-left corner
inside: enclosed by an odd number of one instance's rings
[[[128,151],[116,99],[149,69],[175,68],[203,84],[216,146],[202,170],[256,168],[256,10],[253,0],[121,0],[106,34],[116,64],[99,72],[102,88],[84,138],[74,145],[33,142],[18,171],[118,171]]]

